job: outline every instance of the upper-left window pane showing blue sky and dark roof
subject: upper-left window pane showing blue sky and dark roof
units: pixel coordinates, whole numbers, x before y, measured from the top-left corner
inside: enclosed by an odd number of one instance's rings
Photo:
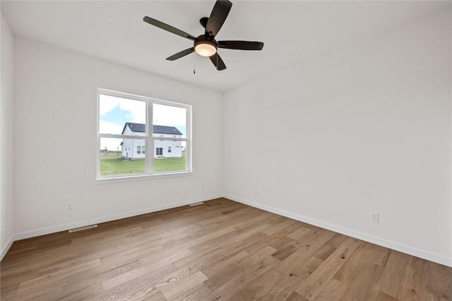
[[[145,123],[145,102],[99,94],[99,133],[143,136]]]

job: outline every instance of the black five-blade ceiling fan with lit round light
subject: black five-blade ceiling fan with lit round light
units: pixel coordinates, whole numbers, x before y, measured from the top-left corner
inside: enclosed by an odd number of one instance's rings
[[[263,42],[251,42],[251,41],[216,41],[215,36],[218,34],[218,31],[222,27],[223,23],[225,23],[226,17],[231,10],[232,3],[228,0],[218,0],[215,2],[215,6],[213,6],[212,13],[210,13],[210,17],[204,17],[199,20],[201,25],[206,29],[203,35],[199,35],[195,37],[194,35],[190,35],[189,33],[183,32],[182,30],[178,30],[176,27],[172,27],[171,25],[167,25],[165,23],[160,22],[159,20],[155,20],[153,18],[149,18],[148,16],[143,18],[143,21],[149,23],[150,25],[157,26],[162,30],[167,30],[169,32],[174,33],[175,35],[180,35],[181,37],[185,37],[186,39],[191,39],[194,42],[193,47],[189,49],[182,50],[177,54],[173,54],[172,56],[167,57],[168,61],[175,61],[177,59],[182,58],[192,52],[196,51],[200,56],[208,56],[210,61],[212,61],[213,65],[217,68],[217,70],[225,70],[226,65],[221,59],[220,55],[218,55],[218,48],[225,49],[239,49],[239,50],[261,50],[263,48]]]

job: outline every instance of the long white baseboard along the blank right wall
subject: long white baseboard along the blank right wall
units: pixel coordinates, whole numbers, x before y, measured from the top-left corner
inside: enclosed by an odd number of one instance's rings
[[[232,201],[235,201],[235,202],[239,202],[239,203],[242,203],[242,204],[249,205],[251,207],[255,207],[255,208],[258,208],[258,209],[269,211],[269,212],[272,212],[274,214],[286,216],[286,217],[288,217],[290,219],[295,219],[297,221],[302,221],[304,223],[309,223],[311,225],[318,226],[320,228],[324,228],[324,229],[327,229],[327,230],[330,230],[330,231],[334,231],[334,232],[337,232],[337,233],[340,233],[340,234],[343,234],[343,235],[351,236],[352,238],[357,238],[359,240],[364,240],[364,241],[367,241],[367,242],[371,242],[371,243],[374,243],[375,245],[381,245],[382,247],[388,247],[389,249],[392,249],[392,250],[403,252],[405,254],[410,254],[412,256],[420,257],[422,259],[427,259],[427,260],[429,260],[431,262],[436,262],[438,264],[443,264],[444,266],[452,267],[452,257],[444,257],[444,256],[441,256],[439,254],[434,254],[432,252],[428,252],[428,251],[425,251],[425,250],[417,249],[415,247],[410,247],[408,245],[402,245],[402,244],[400,244],[398,242],[393,242],[391,240],[385,240],[383,238],[377,238],[377,237],[372,236],[372,235],[368,235],[368,234],[365,234],[365,233],[360,233],[360,232],[353,231],[353,230],[350,230],[350,229],[347,229],[347,228],[343,228],[343,227],[340,227],[340,226],[335,226],[335,225],[333,225],[331,223],[326,223],[326,222],[323,222],[323,221],[317,221],[316,219],[309,219],[309,217],[306,217],[306,216],[302,216],[302,215],[299,215],[299,214],[293,214],[293,213],[290,213],[290,212],[287,212],[287,211],[283,211],[283,210],[280,210],[280,209],[275,209],[273,207],[269,207],[269,206],[266,206],[266,205],[263,205],[263,204],[258,204],[258,203],[255,203],[255,202],[249,202],[246,199],[241,199],[239,197],[233,197],[232,195],[224,195],[223,197],[225,197],[227,199],[231,199]]]

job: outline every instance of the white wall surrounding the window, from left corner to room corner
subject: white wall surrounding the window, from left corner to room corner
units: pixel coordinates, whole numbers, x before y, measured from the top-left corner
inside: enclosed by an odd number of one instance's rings
[[[220,93],[27,39],[14,51],[16,238],[221,195]],[[96,184],[97,87],[191,104],[194,175]]]

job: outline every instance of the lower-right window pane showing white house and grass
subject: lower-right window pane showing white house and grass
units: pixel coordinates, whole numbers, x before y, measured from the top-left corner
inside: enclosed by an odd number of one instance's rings
[[[154,171],[185,171],[186,153],[182,141],[154,140]]]

